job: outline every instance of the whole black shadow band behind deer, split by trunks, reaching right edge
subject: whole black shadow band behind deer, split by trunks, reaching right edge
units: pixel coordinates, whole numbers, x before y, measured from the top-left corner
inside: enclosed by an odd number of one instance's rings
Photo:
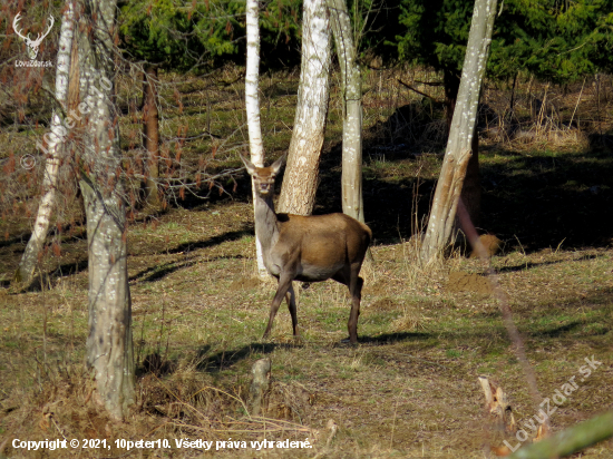
[[[388,130],[399,131],[402,110],[407,108],[400,107],[386,121]],[[374,140],[364,139],[363,147],[364,219],[377,243],[397,243],[420,231],[415,227],[416,212],[418,222],[427,218],[436,187],[432,167],[439,167],[441,159],[431,155],[425,162],[410,137]],[[505,149],[505,144],[481,147],[481,232],[528,253],[560,244],[565,250],[611,246],[612,233],[603,224],[613,206],[613,144],[606,145],[577,153],[558,153],[548,145],[532,152]],[[419,164],[429,173],[424,174]],[[341,147],[333,145],[321,158],[319,214],[342,209],[340,166]],[[418,170],[426,179],[417,178]]]

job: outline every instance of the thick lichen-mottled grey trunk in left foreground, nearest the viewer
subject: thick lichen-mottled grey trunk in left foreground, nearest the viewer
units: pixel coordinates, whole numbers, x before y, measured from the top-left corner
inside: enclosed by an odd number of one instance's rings
[[[87,367],[96,380],[96,400],[121,420],[135,395],[125,194],[113,102],[115,11],[116,0],[97,0],[81,14],[79,31],[93,32],[80,33],[78,40],[79,92],[88,107],[80,187],[89,256]]]

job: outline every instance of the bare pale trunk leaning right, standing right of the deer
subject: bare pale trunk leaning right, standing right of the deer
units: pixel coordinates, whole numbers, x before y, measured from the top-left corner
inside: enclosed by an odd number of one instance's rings
[[[451,121],[447,150],[435,192],[421,260],[428,262],[442,253],[454,228],[456,208],[474,146],[479,92],[487,64],[496,0],[476,0],[458,100]]]

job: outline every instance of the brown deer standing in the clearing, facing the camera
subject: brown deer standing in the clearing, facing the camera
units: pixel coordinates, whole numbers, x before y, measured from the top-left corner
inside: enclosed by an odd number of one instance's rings
[[[295,295],[292,281],[321,282],[333,279],[349,287],[349,341],[358,342],[358,316],[363,280],[360,268],[372,238],[363,223],[344,214],[300,216],[276,214],[273,195],[274,179],[285,157],[270,167],[256,167],[241,155],[255,187],[255,233],[262,243],[264,265],[279,280],[271,304],[266,338],[279,306],[285,296],[294,336],[299,336]]]

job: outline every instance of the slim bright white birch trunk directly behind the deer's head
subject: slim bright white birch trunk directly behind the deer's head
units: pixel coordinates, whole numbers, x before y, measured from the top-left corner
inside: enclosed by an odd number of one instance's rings
[[[251,162],[257,167],[264,167],[264,146],[262,143],[262,127],[260,125],[260,12],[257,0],[247,0],[246,4],[246,26],[247,26],[247,64],[245,75],[245,107],[247,113],[249,128],[249,148],[251,152]],[[256,193],[252,182],[253,205],[255,207]],[[255,212],[255,211],[254,211]],[[257,260],[257,276],[262,280],[269,276],[266,266],[264,266],[264,256],[262,254],[262,242],[255,233],[255,257]]]

